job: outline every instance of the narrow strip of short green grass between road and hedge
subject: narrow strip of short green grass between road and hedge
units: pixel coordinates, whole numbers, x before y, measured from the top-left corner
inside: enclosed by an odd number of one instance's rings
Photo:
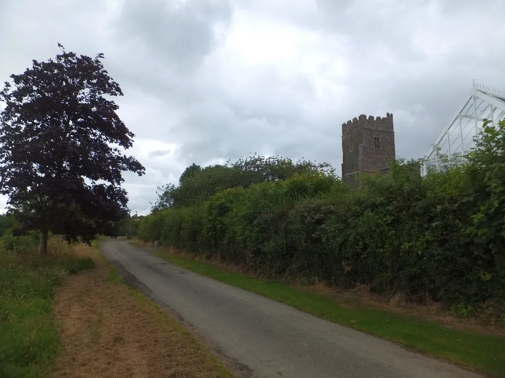
[[[289,282],[264,280],[224,271],[210,263],[155,250],[157,256],[182,268],[286,303],[318,318],[393,341],[490,376],[505,377],[503,337],[446,328],[435,322],[379,309],[342,306],[327,295],[294,288]]]

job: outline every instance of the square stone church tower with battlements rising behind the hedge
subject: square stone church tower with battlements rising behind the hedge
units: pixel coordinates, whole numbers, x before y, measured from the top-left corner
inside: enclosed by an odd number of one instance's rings
[[[394,151],[393,114],[365,114],[342,123],[342,179],[354,185],[357,173],[387,172]]]

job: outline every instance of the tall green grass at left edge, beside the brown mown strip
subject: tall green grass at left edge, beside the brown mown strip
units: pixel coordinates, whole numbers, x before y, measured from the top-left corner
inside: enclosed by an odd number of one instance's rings
[[[55,288],[70,273],[93,265],[70,255],[20,259],[0,250],[0,377],[47,374],[61,348]]]

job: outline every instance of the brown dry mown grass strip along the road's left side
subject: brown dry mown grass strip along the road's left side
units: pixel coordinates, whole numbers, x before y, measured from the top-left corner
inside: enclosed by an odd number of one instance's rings
[[[64,353],[54,377],[231,377],[181,325],[127,285],[111,280],[99,251],[74,249],[96,269],[69,277],[57,291]]]

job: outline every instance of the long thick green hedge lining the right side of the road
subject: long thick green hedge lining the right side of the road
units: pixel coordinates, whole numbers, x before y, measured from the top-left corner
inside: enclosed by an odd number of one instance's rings
[[[398,161],[359,190],[317,172],[235,187],[145,217],[140,237],[254,272],[503,311],[505,123],[491,129],[445,172]]]

